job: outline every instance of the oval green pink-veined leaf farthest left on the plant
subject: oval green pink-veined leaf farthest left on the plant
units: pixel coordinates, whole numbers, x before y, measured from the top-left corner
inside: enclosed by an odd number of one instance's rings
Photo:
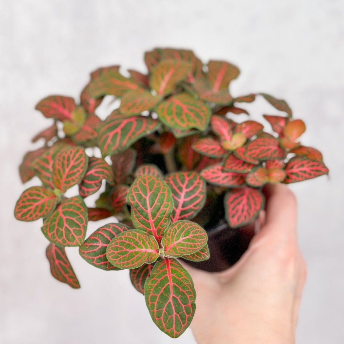
[[[32,186],[25,190],[14,209],[14,216],[20,221],[35,221],[49,215],[55,208],[58,197],[43,186]]]

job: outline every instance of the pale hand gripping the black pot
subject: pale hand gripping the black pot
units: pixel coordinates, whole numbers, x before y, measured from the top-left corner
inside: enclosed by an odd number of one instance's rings
[[[198,344],[295,343],[306,265],[297,242],[297,205],[285,185],[267,185],[261,230],[231,268],[183,264],[197,293],[191,329]]]

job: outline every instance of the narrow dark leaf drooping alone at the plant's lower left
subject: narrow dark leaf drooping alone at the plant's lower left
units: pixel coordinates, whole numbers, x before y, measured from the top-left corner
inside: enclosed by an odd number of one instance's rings
[[[49,244],[46,248],[46,257],[50,263],[50,272],[58,281],[67,283],[68,286],[78,289],[80,284],[69,262],[64,247]]]

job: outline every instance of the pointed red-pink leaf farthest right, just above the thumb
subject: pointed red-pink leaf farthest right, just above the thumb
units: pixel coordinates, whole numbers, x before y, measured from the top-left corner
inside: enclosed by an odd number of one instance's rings
[[[329,173],[329,169],[324,163],[298,156],[291,158],[284,170],[287,173],[284,183],[288,184],[313,179]]]

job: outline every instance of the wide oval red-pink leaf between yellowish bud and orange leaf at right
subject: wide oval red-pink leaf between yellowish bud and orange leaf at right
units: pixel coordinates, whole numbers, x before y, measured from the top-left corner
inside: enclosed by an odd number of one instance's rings
[[[275,138],[258,137],[247,145],[246,155],[258,160],[283,159],[285,153],[278,144]]]

